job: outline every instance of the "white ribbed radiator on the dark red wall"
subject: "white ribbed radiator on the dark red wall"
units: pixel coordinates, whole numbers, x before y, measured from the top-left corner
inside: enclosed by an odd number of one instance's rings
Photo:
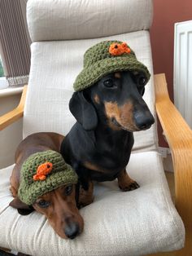
[[[192,128],[192,20],[175,24],[174,103]]]

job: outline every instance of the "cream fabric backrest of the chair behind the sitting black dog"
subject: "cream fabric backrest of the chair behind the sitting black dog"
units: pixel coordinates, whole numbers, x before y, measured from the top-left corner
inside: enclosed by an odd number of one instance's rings
[[[109,38],[89,40],[33,42],[28,95],[24,110],[24,137],[39,131],[55,131],[67,135],[75,123],[68,108],[73,82],[83,68],[83,55],[90,47],[103,40],[128,42],[151,72],[144,99],[155,115],[155,96],[148,31],[126,33]],[[156,125],[150,130],[136,132],[134,149],[156,149]]]

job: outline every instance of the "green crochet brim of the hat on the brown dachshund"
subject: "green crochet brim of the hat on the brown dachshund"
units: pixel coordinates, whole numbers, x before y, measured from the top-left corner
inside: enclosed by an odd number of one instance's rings
[[[22,184],[21,181],[18,196],[26,205],[33,205],[39,196],[44,195],[46,192],[51,192],[62,185],[77,183],[77,179],[72,167],[65,164],[64,170],[48,175],[45,180],[35,181],[29,185],[24,181]]]

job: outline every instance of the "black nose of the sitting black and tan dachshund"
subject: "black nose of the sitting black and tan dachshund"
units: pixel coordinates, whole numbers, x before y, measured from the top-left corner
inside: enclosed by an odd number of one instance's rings
[[[154,124],[155,119],[150,112],[137,112],[134,115],[135,125],[139,130],[149,129]]]

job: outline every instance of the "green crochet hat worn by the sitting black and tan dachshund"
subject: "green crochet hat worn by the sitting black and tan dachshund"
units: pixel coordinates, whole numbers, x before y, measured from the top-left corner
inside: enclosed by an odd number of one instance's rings
[[[120,41],[104,41],[85,51],[84,68],[76,77],[74,90],[84,90],[94,85],[108,73],[129,70],[142,71],[146,74],[147,82],[151,74],[144,64],[139,62],[134,51]]]

